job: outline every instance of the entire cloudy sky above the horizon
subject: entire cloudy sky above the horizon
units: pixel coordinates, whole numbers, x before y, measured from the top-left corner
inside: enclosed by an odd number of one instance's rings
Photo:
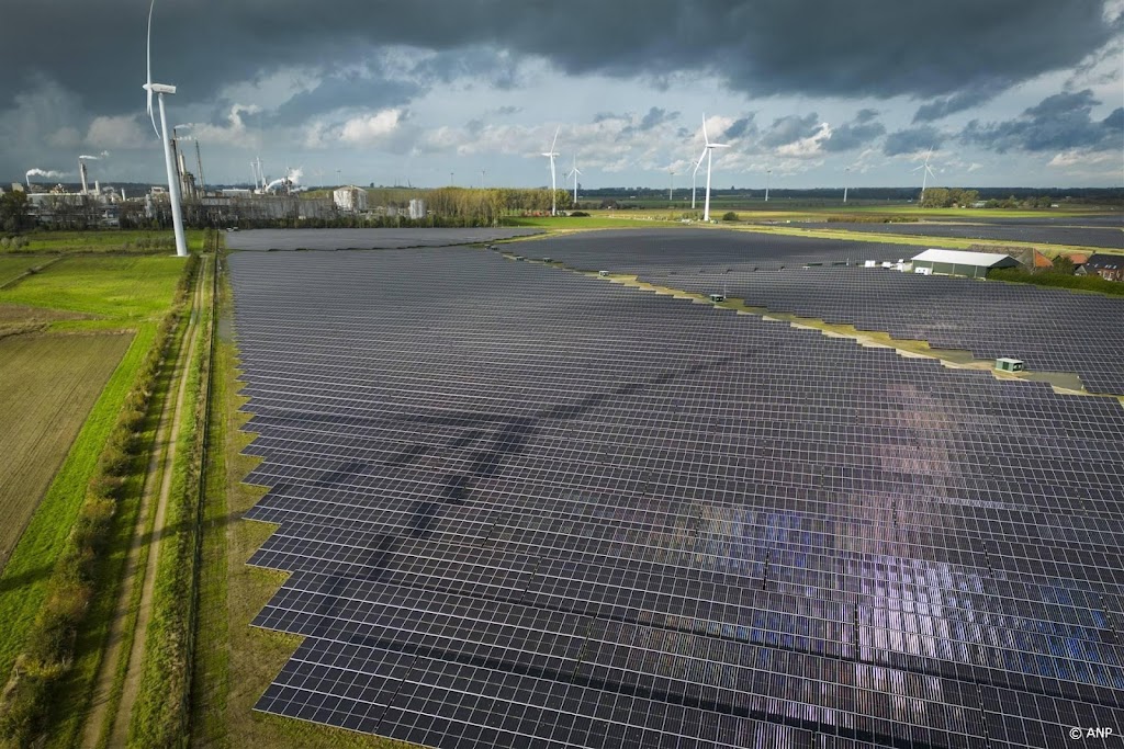
[[[0,180],[108,152],[91,179],[163,182],[147,2],[6,6]],[[681,189],[705,113],[722,188],[919,185],[930,148],[930,184],[1124,184],[1124,0],[156,0],[153,24],[208,183],[260,156],[307,184],[549,185],[561,127],[560,186],[577,157],[589,188]]]

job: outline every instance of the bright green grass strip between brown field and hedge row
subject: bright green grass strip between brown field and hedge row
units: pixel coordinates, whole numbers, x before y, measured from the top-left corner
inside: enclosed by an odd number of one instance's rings
[[[11,667],[43,603],[46,583],[70,533],[101,449],[117,422],[137,367],[156,335],[142,326],[98,398],[51,487],[0,574],[0,674]],[[65,347],[72,337],[55,338]]]

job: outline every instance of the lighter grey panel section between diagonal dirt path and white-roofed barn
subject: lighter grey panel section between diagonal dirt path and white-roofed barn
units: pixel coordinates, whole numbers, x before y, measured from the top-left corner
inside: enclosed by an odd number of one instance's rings
[[[719,293],[895,338],[1014,356],[1042,372],[1075,372],[1095,393],[1124,394],[1124,299],[1025,284],[921,276],[881,268],[779,273],[641,274],[695,293]]]

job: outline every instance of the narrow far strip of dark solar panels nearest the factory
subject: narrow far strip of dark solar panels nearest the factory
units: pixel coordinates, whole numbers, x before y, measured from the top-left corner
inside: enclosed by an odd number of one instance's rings
[[[538,234],[538,229],[252,229],[228,231],[229,249],[400,249],[448,247]]]

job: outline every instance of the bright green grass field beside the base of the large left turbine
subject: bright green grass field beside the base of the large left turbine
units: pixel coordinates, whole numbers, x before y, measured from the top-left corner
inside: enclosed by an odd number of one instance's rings
[[[55,322],[56,330],[135,326],[167,309],[183,263],[152,255],[73,257],[0,291],[0,304],[101,318]]]

